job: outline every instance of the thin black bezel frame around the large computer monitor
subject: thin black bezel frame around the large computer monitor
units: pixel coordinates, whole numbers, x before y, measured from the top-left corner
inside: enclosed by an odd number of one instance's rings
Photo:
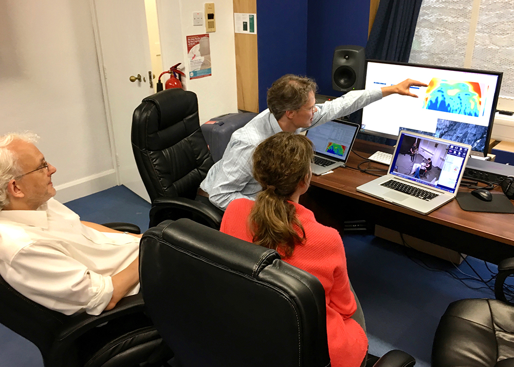
[[[374,60],[374,59],[366,59],[365,65],[364,65],[364,87],[366,85],[366,79],[368,77],[368,63],[379,63],[379,64],[389,64],[389,65],[402,65],[402,66],[413,66],[413,67],[421,67],[421,68],[430,68],[430,69],[441,69],[441,70],[452,70],[452,71],[463,71],[463,72],[472,72],[472,73],[479,73],[479,74],[488,74],[488,75],[495,75],[498,76],[498,82],[496,85],[496,90],[494,91],[494,98],[492,102],[492,109],[491,109],[491,116],[489,119],[489,124],[487,126],[487,136],[486,136],[486,142],[485,142],[485,151],[481,152],[478,150],[470,150],[470,153],[473,156],[483,156],[487,157],[487,153],[489,152],[489,141],[491,140],[491,133],[492,133],[492,127],[494,124],[494,117],[497,110],[498,105],[498,98],[500,96],[500,88],[502,86],[502,78],[503,78],[503,72],[502,71],[488,71],[488,70],[476,70],[476,69],[468,69],[468,68],[456,68],[456,67],[450,67],[450,66],[439,66],[439,65],[428,65],[428,64],[414,64],[414,63],[402,63],[397,61],[384,61],[384,60]],[[401,81],[400,81],[401,82]],[[365,107],[364,107],[365,108]],[[397,140],[399,137],[398,135],[383,133],[380,131],[373,131],[373,130],[367,130],[362,128],[362,117],[364,114],[361,115],[361,121],[360,121],[360,130],[359,132],[370,134],[377,137]]]

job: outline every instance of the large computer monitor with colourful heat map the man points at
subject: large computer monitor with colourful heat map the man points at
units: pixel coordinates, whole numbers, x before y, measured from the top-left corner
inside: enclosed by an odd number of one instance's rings
[[[367,60],[365,87],[384,87],[408,78],[419,98],[391,95],[364,107],[361,132],[395,139],[400,130],[471,145],[485,156],[502,82],[501,72]]]

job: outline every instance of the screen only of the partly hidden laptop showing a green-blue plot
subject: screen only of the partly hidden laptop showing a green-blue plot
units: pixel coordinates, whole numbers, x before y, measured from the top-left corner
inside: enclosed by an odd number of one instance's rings
[[[316,152],[326,157],[346,161],[360,126],[346,121],[328,121],[307,130]]]

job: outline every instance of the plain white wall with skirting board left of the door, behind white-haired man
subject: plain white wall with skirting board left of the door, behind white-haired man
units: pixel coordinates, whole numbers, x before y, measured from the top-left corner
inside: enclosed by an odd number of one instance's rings
[[[116,185],[87,0],[3,2],[0,133],[17,130],[41,136],[59,200]]]

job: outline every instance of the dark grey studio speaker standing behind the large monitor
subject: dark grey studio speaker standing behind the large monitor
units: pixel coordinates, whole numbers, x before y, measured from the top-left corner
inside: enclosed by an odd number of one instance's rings
[[[364,89],[364,47],[338,46],[332,60],[332,88],[340,92]]]

